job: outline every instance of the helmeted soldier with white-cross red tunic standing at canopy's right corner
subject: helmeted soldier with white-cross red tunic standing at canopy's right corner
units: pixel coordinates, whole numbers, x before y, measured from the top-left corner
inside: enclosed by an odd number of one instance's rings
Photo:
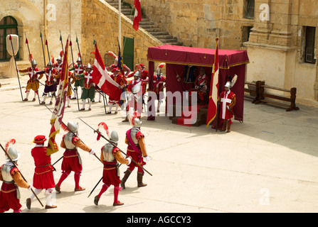
[[[224,86],[224,92],[220,94],[219,101],[220,106],[220,118],[223,121],[223,127],[221,131],[226,131],[226,123],[228,123],[228,131],[230,133],[230,125],[232,124],[231,118],[233,118],[233,106],[235,106],[235,94],[230,91],[230,82],[227,82]]]

